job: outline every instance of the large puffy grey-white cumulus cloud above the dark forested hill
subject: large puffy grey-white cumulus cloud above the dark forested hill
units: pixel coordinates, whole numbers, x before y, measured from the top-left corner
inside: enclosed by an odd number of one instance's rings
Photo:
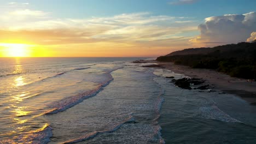
[[[256,13],[207,17],[198,26],[200,35],[190,42],[201,46],[214,46],[246,41],[256,30]]]

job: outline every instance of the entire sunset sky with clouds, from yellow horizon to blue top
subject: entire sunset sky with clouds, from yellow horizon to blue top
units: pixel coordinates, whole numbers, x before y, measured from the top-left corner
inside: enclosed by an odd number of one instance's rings
[[[256,37],[256,1],[0,0],[0,57],[156,57]]]

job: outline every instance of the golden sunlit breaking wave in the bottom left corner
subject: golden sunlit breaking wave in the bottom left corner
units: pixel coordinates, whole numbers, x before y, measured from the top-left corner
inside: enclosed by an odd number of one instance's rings
[[[36,131],[30,131],[20,136],[15,136],[13,139],[0,140],[0,143],[40,143],[46,144],[50,142],[50,137],[53,136],[52,128],[49,124],[45,124],[43,128]]]

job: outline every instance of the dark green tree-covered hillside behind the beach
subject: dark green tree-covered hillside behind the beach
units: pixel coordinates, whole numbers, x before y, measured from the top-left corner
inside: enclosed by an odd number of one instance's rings
[[[189,49],[161,56],[156,61],[216,69],[234,77],[256,79],[256,43],[238,43],[213,48]],[[190,54],[188,51],[190,51]],[[196,51],[197,54],[194,54]],[[178,54],[178,55],[175,55]]]

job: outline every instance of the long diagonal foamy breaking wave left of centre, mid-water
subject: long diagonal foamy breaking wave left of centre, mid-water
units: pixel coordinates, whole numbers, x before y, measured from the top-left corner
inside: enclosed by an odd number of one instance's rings
[[[52,110],[46,112],[45,115],[55,114],[58,112],[65,111],[65,110],[69,109],[70,107],[81,103],[84,99],[94,97],[97,93],[99,93],[102,90],[103,87],[107,86],[111,81],[114,80],[110,73],[112,73],[113,71],[118,70],[120,68],[123,68],[123,67],[108,70],[107,71],[108,79],[106,81],[102,81],[101,83],[99,83],[99,86],[96,87],[95,89],[92,89],[91,91],[87,91],[85,93],[78,94],[75,96],[67,97],[60,101],[56,101],[55,103],[52,103],[51,105],[54,107],[51,107]]]

